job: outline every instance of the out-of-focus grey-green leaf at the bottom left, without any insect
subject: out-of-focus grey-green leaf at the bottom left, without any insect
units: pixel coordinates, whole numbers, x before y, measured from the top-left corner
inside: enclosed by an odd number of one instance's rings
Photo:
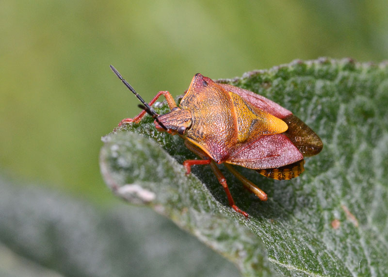
[[[129,210],[118,201],[101,209],[1,174],[0,192],[1,277],[238,275],[233,264],[145,207]]]

